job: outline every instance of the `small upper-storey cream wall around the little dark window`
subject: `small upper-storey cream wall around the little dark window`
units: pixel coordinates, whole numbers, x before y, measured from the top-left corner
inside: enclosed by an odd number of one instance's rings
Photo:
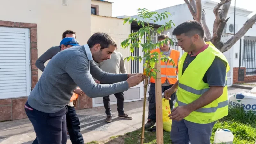
[[[92,0],[91,4],[99,6],[99,15],[112,17],[112,4],[111,3]]]

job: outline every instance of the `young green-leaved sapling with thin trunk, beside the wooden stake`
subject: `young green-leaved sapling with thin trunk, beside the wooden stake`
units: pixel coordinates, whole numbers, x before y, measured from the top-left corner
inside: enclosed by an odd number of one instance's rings
[[[151,49],[154,48],[160,48],[160,46],[163,44],[167,44],[168,41],[170,41],[170,44],[173,45],[173,41],[171,38],[165,39],[163,41],[154,43],[152,41],[152,36],[154,33],[161,33],[164,30],[170,29],[172,25],[175,26],[175,24],[170,20],[169,22],[165,22],[165,25],[162,25],[161,27],[157,28],[157,30],[154,29],[154,25],[156,22],[165,20],[168,18],[168,16],[171,16],[169,12],[151,12],[145,8],[143,9],[138,9],[138,16],[140,19],[137,18],[124,18],[124,24],[129,23],[131,24],[132,22],[136,21],[137,24],[142,26],[137,32],[132,32],[126,40],[124,40],[121,43],[122,48],[127,48],[130,47],[131,53],[134,52],[135,48],[142,47],[142,52],[145,54],[142,56],[129,56],[124,59],[127,61],[130,60],[139,60],[141,63],[142,60],[145,60],[145,63],[143,64],[143,67],[145,68],[144,74],[146,75],[146,79],[144,82],[144,101],[143,101],[143,116],[142,116],[142,134],[141,134],[141,144],[143,144],[144,141],[144,124],[145,124],[145,107],[146,107],[146,94],[147,94],[147,86],[148,86],[148,78],[153,77],[156,79],[156,72],[159,72],[155,68],[156,63],[159,63],[159,53],[153,52],[150,53]],[[146,38],[146,42],[144,42],[144,39]],[[141,41],[143,39],[143,42]],[[161,61],[163,62],[173,62],[173,60],[168,56],[166,57],[163,55],[163,53],[160,53],[161,55]],[[173,62],[174,66],[174,62]]]

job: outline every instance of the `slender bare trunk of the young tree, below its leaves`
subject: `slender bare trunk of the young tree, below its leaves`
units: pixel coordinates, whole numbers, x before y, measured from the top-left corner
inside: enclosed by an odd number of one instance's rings
[[[148,64],[146,65],[146,68],[148,68]],[[143,114],[142,114],[142,132],[141,132],[141,139],[140,143],[144,143],[144,132],[145,132],[145,110],[146,110],[146,96],[147,96],[147,88],[148,88],[148,76],[145,78],[144,83],[144,99],[143,99]]]

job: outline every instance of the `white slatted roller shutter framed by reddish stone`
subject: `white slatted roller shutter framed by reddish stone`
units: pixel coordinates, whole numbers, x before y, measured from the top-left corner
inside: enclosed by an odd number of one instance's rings
[[[0,99],[30,94],[29,29],[0,27]]]

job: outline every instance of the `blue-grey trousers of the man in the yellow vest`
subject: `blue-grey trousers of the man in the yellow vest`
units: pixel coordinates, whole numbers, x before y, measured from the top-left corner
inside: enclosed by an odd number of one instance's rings
[[[172,144],[210,144],[212,128],[215,122],[197,124],[186,120],[172,120]]]

